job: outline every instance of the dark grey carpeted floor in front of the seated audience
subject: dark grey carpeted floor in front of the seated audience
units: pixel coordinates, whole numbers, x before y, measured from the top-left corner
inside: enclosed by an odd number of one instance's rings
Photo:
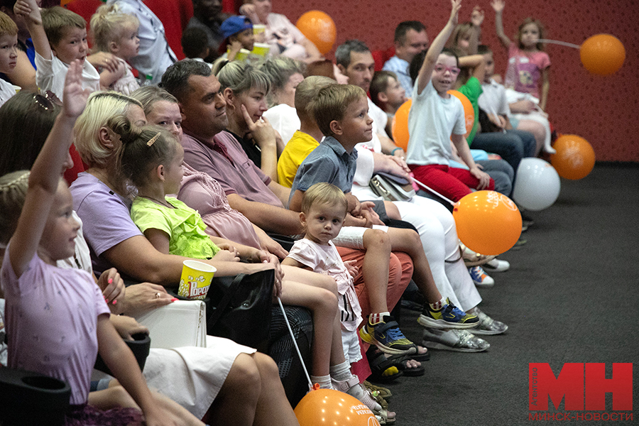
[[[528,243],[500,256],[510,271],[493,273],[496,285],[480,290],[480,307],[509,325],[506,334],[485,337],[491,347],[484,353],[433,350],[425,376],[388,385],[397,425],[540,423],[528,420],[535,414],[528,411],[528,363],[549,363],[555,375],[567,362],[606,363],[610,378],[612,363],[639,361],[638,212],[639,167],[597,165],[583,180],[562,179],[557,202],[532,213]],[[417,313],[402,316],[403,332],[419,341]],[[613,412],[610,393],[606,410]],[[551,404],[547,413],[555,412]]]

